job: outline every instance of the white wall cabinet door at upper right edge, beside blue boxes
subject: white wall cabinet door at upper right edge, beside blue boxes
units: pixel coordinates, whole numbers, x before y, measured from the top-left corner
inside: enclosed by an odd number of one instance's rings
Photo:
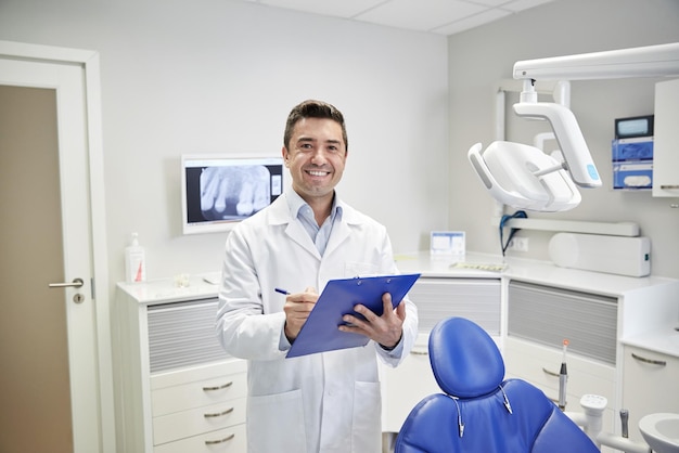
[[[655,85],[653,196],[679,196],[679,79]]]

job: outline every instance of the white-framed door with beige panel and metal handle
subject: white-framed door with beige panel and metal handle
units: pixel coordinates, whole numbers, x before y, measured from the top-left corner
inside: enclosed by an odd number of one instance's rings
[[[0,131],[12,137],[0,141],[0,451],[113,451],[111,394],[100,375],[110,372],[102,366],[110,360],[102,344],[107,297],[93,298],[85,67],[0,54],[0,120],[11,125]],[[34,102],[41,107],[26,116],[28,129],[12,122]],[[41,134],[46,146],[34,147]],[[78,280],[81,286],[59,286]]]

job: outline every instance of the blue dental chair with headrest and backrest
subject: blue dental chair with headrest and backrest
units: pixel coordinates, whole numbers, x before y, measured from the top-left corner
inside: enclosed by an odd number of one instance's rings
[[[545,393],[504,378],[495,341],[463,318],[440,321],[430,361],[444,393],[424,398],[406,418],[395,453],[598,453]]]

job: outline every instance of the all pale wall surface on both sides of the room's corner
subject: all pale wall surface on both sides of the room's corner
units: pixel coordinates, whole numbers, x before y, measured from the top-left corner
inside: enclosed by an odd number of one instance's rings
[[[396,250],[449,228],[467,232],[467,249],[499,253],[492,200],[465,157],[494,140],[498,81],[516,60],[678,41],[677,24],[676,0],[556,0],[448,39],[230,0],[0,1],[0,39],[101,53],[112,282],[131,231],[152,279],[218,269],[222,235],[181,235],[180,155],[278,154],[285,116],[306,98],[345,112],[341,194],[388,226]],[[654,81],[573,83],[604,178],[613,119],[652,113]],[[512,119],[510,139],[528,140],[522,127]],[[676,199],[604,183],[573,211],[531,217],[636,221],[653,273],[679,277]],[[551,233],[520,234],[530,238],[520,256],[547,259]]]

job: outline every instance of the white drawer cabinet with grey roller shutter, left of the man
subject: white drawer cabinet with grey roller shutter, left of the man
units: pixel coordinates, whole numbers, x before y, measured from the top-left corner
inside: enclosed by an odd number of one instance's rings
[[[146,453],[244,452],[246,363],[214,331],[201,280],[119,284],[114,307],[117,442]]]

